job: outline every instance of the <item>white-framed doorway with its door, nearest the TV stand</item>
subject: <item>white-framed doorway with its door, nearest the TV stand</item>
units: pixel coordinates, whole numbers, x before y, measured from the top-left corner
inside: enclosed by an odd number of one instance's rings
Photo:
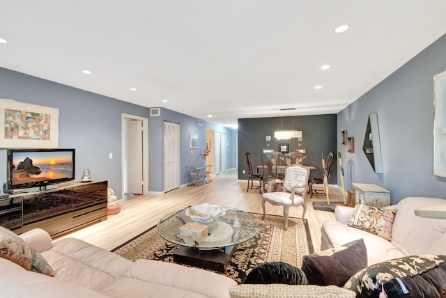
[[[122,197],[148,194],[148,119],[122,114]]]

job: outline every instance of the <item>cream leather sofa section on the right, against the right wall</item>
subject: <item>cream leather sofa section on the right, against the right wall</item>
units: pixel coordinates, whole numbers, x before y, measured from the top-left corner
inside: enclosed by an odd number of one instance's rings
[[[348,226],[353,207],[335,210],[336,221],[325,221],[321,231],[321,250],[342,246],[353,240],[364,239],[368,265],[403,256],[429,254],[446,255],[446,219],[417,217],[415,209],[422,206],[446,204],[441,198],[409,197],[397,205],[392,225],[392,240]]]

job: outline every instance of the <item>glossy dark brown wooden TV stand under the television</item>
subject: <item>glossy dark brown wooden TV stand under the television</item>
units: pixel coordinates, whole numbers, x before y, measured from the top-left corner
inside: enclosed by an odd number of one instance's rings
[[[15,191],[0,200],[0,226],[15,233],[42,228],[56,237],[107,219],[107,181],[68,182],[43,191]]]

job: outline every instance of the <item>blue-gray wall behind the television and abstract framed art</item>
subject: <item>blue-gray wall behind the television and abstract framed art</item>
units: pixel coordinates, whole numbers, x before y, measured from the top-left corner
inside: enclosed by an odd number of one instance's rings
[[[76,179],[89,168],[93,179],[108,180],[121,194],[121,113],[146,117],[146,108],[5,68],[0,97],[59,108],[59,148],[76,149]],[[6,182],[6,150],[0,150],[0,182]]]

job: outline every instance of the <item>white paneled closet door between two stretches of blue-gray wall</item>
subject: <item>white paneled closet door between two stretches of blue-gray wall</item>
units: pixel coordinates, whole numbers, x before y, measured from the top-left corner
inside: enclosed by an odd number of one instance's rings
[[[164,191],[180,187],[180,125],[164,121]]]

